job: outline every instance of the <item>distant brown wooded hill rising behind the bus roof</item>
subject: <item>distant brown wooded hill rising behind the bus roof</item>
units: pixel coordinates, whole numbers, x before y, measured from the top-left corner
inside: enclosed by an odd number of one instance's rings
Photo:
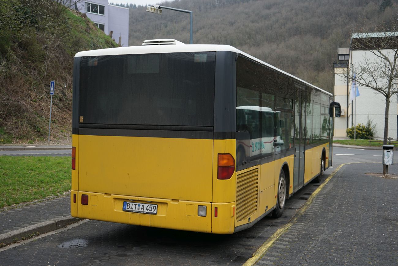
[[[116,1],[117,2],[117,1]],[[193,43],[228,44],[332,92],[337,47],[351,31],[397,16],[389,0],[176,0],[160,5],[193,11]],[[189,43],[189,14],[130,9],[129,45],[173,38]]]

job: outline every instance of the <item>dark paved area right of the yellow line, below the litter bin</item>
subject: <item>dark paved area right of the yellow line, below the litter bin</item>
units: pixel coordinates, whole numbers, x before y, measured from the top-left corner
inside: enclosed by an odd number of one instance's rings
[[[343,166],[257,265],[398,265],[398,179],[365,174],[381,167]]]

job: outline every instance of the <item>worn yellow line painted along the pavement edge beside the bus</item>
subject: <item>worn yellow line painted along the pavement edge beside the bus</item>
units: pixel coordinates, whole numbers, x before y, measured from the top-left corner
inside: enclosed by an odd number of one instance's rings
[[[347,164],[358,164],[361,162],[353,162],[353,163],[347,163]],[[300,209],[300,211],[297,212],[297,214],[290,220],[289,223],[284,225],[283,227],[279,228],[275,233],[273,233],[267,241],[265,241],[259,248],[254,252],[253,256],[249,258],[243,266],[252,266],[254,265],[262,256],[264,256],[265,252],[267,252],[268,248],[283,234],[289,227],[291,227],[294,223],[297,222],[297,219],[300,218],[306,210],[310,207],[312,201],[314,201],[314,197],[321,191],[321,189],[329,182],[329,180],[340,170],[341,167],[347,165],[347,164],[341,164],[339,165],[336,170],[334,170],[328,178],[325,179],[325,181],[320,185],[308,198],[307,202],[304,204],[304,206]]]

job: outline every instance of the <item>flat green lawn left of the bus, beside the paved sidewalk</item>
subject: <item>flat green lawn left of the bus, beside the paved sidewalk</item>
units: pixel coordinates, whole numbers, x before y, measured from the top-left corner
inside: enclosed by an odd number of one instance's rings
[[[70,190],[70,157],[0,156],[0,207]]]

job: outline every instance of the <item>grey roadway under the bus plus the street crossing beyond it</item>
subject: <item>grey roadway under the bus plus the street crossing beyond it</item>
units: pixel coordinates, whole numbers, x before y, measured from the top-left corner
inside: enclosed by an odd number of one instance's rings
[[[33,152],[70,154],[69,150]],[[26,155],[26,151],[21,153]],[[381,155],[381,150],[335,147],[334,167],[326,171],[325,177],[340,164],[381,162]],[[319,185],[309,183],[293,195],[287,201],[281,218],[265,217],[252,228],[231,235],[84,220],[57,233],[44,234],[35,241],[21,242],[14,248],[0,252],[0,264],[242,265],[278,228],[289,223]]]

